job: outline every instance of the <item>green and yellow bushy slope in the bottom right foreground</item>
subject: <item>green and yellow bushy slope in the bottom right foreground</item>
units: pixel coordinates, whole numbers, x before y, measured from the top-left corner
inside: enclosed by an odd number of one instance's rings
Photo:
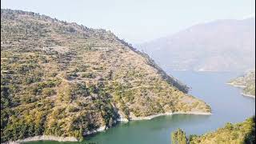
[[[182,130],[177,130],[171,134],[172,143],[175,144],[199,144],[199,143],[255,143],[255,117],[248,118],[244,122],[231,124],[226,123],[226,126],[219,128],[218,130],[209,134],[190,135],[190,138],[186,138],[186,134]]]

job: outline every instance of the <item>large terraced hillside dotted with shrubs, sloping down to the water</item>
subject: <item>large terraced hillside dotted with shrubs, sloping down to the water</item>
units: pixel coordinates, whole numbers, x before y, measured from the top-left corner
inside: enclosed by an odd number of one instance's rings
[[[1,10],[1,142],[82,139],[120,118],[210,113],[205,102],[110,31]]]

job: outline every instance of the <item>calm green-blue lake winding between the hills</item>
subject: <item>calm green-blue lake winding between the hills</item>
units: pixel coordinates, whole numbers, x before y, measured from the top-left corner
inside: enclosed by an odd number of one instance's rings
[[[117,126],[94,134],[82,143],[95,144],[170,144],[170,133],[178,128],[186,134],[204,134],[218,129],[226,122],[242,122],[255,114],[255,99],[244,97],[237,87],[226,85],[230,78],[241,73],[170,71],[175,78],[192,87],[189,94],[207,102],[212,115],[178,114],[151,120],[119,123]],[[78,143],[78,142],[27,142]]]

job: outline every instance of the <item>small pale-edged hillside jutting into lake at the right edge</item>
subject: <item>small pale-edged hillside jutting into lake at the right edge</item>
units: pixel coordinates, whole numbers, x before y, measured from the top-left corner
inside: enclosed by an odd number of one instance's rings
[[[234,78],[229,84],[242,87],[242,94],[251,95],[255,98],[255,71],[250,71],[242,77]]]

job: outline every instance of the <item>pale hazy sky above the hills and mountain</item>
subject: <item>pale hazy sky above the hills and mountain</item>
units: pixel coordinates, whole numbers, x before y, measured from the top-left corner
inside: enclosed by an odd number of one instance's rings
[[[255,0],[2,0],[1,6],[111,30],[135,44],[200,22],[254,16]]]

